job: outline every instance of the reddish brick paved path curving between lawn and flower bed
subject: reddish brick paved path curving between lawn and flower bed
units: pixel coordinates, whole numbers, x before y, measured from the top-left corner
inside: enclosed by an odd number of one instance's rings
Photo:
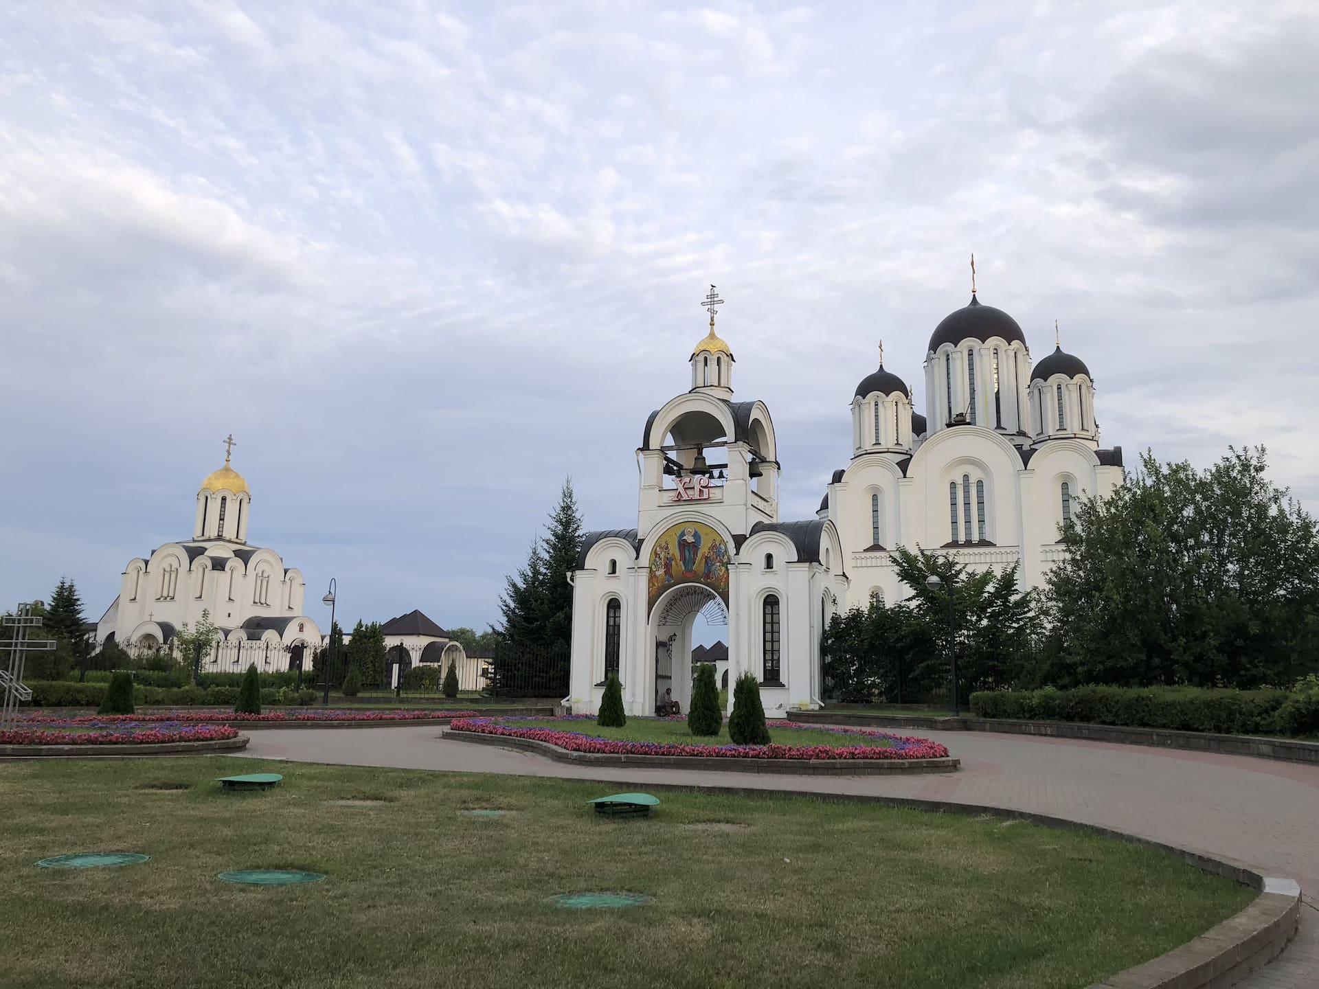
[[[923,732],[962,758],[930,777],[789,777],[758,773],[596,769],[532,753],[442,741],[435,728],[253,732],[247,754],[355,766],[513,773],[637,783],[707,783],[803,793],[955,800],[1116,828],[1245,862],[1301,882],[1301,932],[1240,985],[1319,989],[1319,769],[1109,742],[983,732]]]

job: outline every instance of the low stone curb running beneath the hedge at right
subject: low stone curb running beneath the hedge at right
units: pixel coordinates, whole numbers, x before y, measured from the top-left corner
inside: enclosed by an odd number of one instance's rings
[[[925,717],[919,715],[869,715],[855,711],[789,711],[789,721],[802,724],[869,725],[874,728],[918,728],[944,732],[995,732],[998,734],[1042,734],[1051,738],[1082,738],[1157,749],[1213,752],[1223,756],[1254,756],[1283,762],[1319,765],[1319,744],[1290,738],[1254,738],[1244,734],[1175,732],[1167,728],[1126,728],[1084,721],[1028,721],[1008,717]]]

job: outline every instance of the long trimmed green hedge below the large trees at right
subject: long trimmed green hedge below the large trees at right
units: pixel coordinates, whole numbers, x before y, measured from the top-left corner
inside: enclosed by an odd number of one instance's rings
[[[1199,687],[1076,687],[988,691],[971,695],[977,717],[1086,721],[1128,728],[1167,728],[1220,734],[1304,734],[1303,712],[1286,727],[1278,715],[1293,698],[1285,690]]]

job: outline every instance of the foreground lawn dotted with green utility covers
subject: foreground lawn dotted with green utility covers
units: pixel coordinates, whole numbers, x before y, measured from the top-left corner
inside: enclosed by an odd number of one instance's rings
[[[654,818],[620,823],[584,806],[612,787],[574,781],[282,764],[269,793],[211,782],[270,769],[4,766],[0,985],[1084,986],[1253,897],[1093,833],[806,796],[661,791]],[[691,827],[711,823],[745,827]],[[152,861],[33,866],[96,851]],[[215,880],[260,868],[328,878]],[[575,891],[654,902],[546,903]]]

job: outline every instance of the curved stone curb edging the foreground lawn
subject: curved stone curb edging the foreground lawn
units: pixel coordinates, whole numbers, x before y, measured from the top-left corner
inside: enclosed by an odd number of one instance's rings
[[[644,786],[648,790],[695,790],[733,796],[809,796],[818,800],[835,800],[840,803],[873,803],[884,807],[944,811],[972,818],[992,815],[1013,820],[1026,820],[1046,828],[1088,831],[1119,841],[1153,848],[1173,854],[1200,872],[1212,876],[1225,876],[1244,886],[1258,890],[1260,895],[1244,910],[1211,927],[1200,936],[1159,955],[1157,959],[1150,959],[1140,965],[1112,974],[1101,982],[1095,982],[1088,989],[1228,989],[1228,986],[1236,985],[1282,953],[1283,948],[1287,947],[1287,942],[1295,936],[1301,913],[1301,885],[1295,880],[1266,877],[1248,865],[1228,858],[1215,858],[1186,848],[1141,837],[1140,835],[1129,835],[1124,831],[1115,831],[1113,828],[1097,824],[1068,820],[1067,818],[1054,818],[1033,811],[1017,811],[1008,807],[989,807],[948,800],[925,800],[914,796],[831,794],[810,790],[774,790],[769,787],[719,786],[710,783],[657,783],[649,779],[584,779],[575,782],[591,782],[604,786]]]

